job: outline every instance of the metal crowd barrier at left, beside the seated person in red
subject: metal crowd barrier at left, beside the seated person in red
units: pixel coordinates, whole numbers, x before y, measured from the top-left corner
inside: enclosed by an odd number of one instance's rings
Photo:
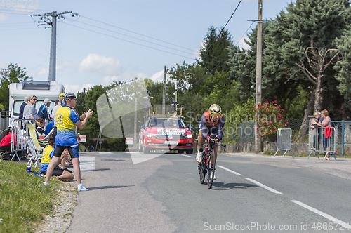
[[[18,156],[18,152],[27,151],[29,149],[28,144],[26,142],[26,137],[29,135],[29,129],[26,126],[27,123],[35,124],[34,119],[13,119],[11,126],[11,154],[13,157],[11,161],[17,157],[18,161],[20,161],[20,157]]]

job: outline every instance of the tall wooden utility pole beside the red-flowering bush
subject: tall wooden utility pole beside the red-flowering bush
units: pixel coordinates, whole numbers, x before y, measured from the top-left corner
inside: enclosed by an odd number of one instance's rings
[[[258,25],[257,25],[257,53],[256,53],[256,107],[261,103],[262,98],[262,0],[258,0]],[[257,111],[256,111],[257,114]],[[256,117],[258,119],[258,117]],[[262,151],[261,137],[257,130],[255,121],[255,150],[256,153]]]

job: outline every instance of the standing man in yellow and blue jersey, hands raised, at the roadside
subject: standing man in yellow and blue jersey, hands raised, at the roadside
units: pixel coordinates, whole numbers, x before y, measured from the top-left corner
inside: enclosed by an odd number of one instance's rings
[[[64,101],[62,101],[62,107],[56,112],[56,124],[58,128],[58,134],[55,138],[56,149],[53,153],[52,160],[47,168],[47,175],[45,178],[44,186],[48,185],[53,168],[60,163],[60,157],[65,149],[68,149],[69,154],[72,157],[72,164],[74,169],[74,176],[77,180],[78,191],[88,191],[86,187],[81,184],[81,168],[79,166],[79,149],[77,145],[76,137],[76,126],[79,130],[82,130],[88,123],[88,119],[93,115],[91,109],[86,112],[84,121],[80,121],[77,112],[72,109],[76,105],[77,97],[74,93],[65,93]],[[60,119],[60,121],[58,121]]]

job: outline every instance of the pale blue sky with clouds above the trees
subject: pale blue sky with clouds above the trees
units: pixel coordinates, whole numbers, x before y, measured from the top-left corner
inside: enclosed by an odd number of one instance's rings
[[[57,28],[56,81],[74,93],[134,77],[160,81],[165,65],[170,69],[183,61],[195,62],[208,28],[223,27],[239,4],[239,0],[11,0],[22,4],[13,8],[6,2],[0,0],[0,69],[18,63],[34,80],[48,80],[51,29],[38,26],[34,20],[39,18],[30,15],[51,11],[81,15],[65,14]],[[263,0],[263,19],[275,18],[290,2]],[[225,27],[234,44],[247,48],[245,32],[252,23],[248,20],[257,18],[258,0],[241,1]],[[256,22],[251,28],[255,26]]]

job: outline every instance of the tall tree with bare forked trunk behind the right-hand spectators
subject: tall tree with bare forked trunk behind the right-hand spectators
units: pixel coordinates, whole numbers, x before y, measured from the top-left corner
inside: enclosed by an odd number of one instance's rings
[[[292,72],[303,72],[300,79],[309,82],[314,99],[312,109],[307,109],[305,119],[312,111],[324,107],[323,93],[329,79],[335,79],[331,68],[338,59],[339,51],[334,40],[345,33],[350,15],[348,0],[297,0],[286,10],[286,33],[291,39],[286,42],[284,56],[294,61]],[[346,16],[350,17],[350,16]],[[293,53],[291,53],[293,51]],[[328,70],[329,69],[329,70]],[[326,76],[326,74],[329,74]]]

